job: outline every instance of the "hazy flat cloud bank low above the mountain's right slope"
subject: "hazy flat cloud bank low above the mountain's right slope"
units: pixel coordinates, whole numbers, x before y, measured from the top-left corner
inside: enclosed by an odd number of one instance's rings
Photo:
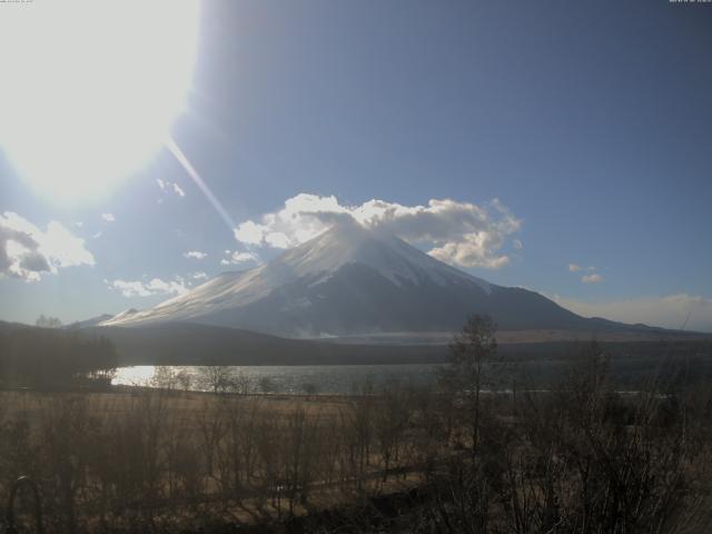
[[[556,304],[584,317],[605,317],[611,320],[663,328],[712,332],[712,298],[675,294],[664,297],[641,297],[627,300],[585,301],[551,297]]]

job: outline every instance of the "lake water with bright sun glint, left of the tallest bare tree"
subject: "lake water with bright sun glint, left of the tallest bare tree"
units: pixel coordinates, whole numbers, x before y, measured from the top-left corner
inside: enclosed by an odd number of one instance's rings
[[[278,394],[349,394],[374,390],[389,384],[427,386],[435,383],[437,364],[406,365],[305,365],[305,366],[231,366],[226,374],[240,387],[254,393]],[[192,366],[135,366],[120,367],[112,380],[115,385],[145,387],[174,387],[209,390],[205,367]]]

